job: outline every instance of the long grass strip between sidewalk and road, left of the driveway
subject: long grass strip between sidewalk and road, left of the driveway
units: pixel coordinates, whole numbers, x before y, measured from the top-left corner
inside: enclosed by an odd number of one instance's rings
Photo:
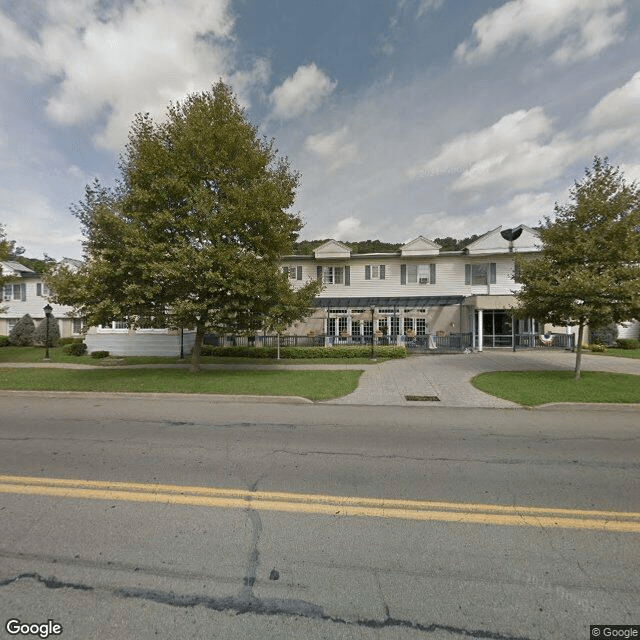
[[[0,389],[222,393],[326,400],[351,393],[362,371],[200,371],[186,369],[1,369]]]

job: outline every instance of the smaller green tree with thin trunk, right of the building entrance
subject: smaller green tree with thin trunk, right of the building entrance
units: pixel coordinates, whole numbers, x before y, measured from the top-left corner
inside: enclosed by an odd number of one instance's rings
[[[640,317],[640,189],[606,158],[576,182],[567,204],[540,229],[542,251],[517,258],[518,315],[577,325],[575,378],[580,378],[586,325]]]

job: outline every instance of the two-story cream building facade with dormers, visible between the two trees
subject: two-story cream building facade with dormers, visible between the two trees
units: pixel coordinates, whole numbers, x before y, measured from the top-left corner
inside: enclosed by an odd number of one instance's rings
[[[521,286],[514,255],[535,254],[540,246],[538,234],[525,225],[504,232],[497,227],[462,251],[442,251],[419,236],[396,252],[353,254],[330,240],[312,256],[283,258],[294,288],[311,278],[324,285],[314,313],[293,332],[337,341],[372,334],[390,342],[449,337],[453,344],[464,336],[478,350],[525,345],[541,328],[534,319],[513,318]]]

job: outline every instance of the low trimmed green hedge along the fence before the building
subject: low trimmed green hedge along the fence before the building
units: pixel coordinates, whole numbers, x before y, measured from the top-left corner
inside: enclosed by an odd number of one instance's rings
[[[374,350],[378,358],[405,358],[407,350],[404,347],[379,346]],[[229,358],[276,358],[276,347],[213,347],[202,345],[203,356],[220,356]],[[280,347],[280,357],[290,359],[300,358],[368,358],[371,347]]]

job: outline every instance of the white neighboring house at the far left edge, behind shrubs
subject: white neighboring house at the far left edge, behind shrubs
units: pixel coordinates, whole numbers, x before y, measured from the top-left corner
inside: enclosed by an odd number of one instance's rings
[[[77,261],[65,258],[63,262],[73,265]],[[25,313],[36,323],[44,319],[44,307],[50,304],[60,327],[60,336],[80,336],[82,319],[70,314],[72,309],[49,301],[49,289],[42,277],[16,261],[0,262],[2,269],[2,301],[0,301],[0,335],[8,336],[11,329]]]

